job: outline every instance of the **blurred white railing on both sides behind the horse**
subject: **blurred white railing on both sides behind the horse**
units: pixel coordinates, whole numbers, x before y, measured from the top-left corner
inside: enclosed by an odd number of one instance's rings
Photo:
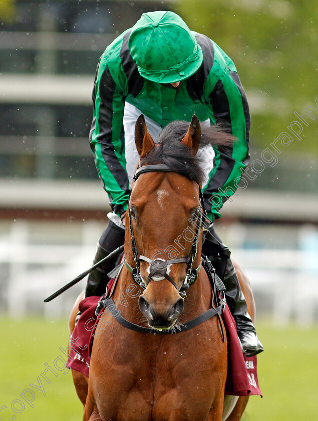
[[[0,236],[1,300],[8,314],[24,317],[36,313],[50,318],[68,315],[85,280],[48,304],[43,299],[90,267],[103,228],[94,222],[68,226],[67,230],[53,223],[38,224],[36,229],[24,221],[12,224]],[[316,231],[309,232],[310,236],[317,239]],[[251,281],[258,317],[266,315],[277,323],[294,319],[305,326],[317,321],[316,246],[309,242],[308,251],[232,250]]]

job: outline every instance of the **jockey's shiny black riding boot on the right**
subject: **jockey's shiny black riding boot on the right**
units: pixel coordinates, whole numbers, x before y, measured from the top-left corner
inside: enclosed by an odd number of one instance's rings
[[[223,280],[225,285],[225,298],[232,316],[236,322],[237,335],[242,345],[243,353],[251,357],[263,351],[263,346],[257,338],[253,322],[247,313],[247,305],[242,293],[234,266],[228,258],[224,269],[218,272],[218,265],[222,266],[222,247],[224,246],[215,233],[213,226],[209,227],[206,239],[203,244],[202,253],[208,256],[216,268],[216,273]],[[226,248],[227,249],[227,248]],[[228,250],[228,249],[227,249]],[[224,262],[224,261],[223,261]]]

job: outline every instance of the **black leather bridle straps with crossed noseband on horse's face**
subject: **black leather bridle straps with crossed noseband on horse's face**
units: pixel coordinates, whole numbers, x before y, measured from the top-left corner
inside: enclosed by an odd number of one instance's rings
[[[158,165],[145,165],[143,167],[138,167],[133,180],[136,181],[137,178],[145,173],[145,172],[154,172],[154,171],[166,171],[166,172],[172,172],[169,167],[165,164],[158,164]],[[127,262],[126,259],[124,260],[125,266],[126,268],[131,272],[132,277],[134,279],[134,281],[143,289],[146,288],[146,284],[142,278],[142,275],[140,273],[140,261],[144,261],[149,263],[149,276],[147,277],[147,280],[149,282],[151,282],[151,278],[155,275],[155,274],[159,274],[162,277],[166,278],[179,292],[179,294],[181,295],[182,298],[185,298],[186,294],[185,291],[189,288],[189,285],[193,284],[195,282],[195,280],[198,277],[198,272],[201,268],[201,265],[199,265],[197,268],[193,268],[193,262],[195,260],[196,254],[197,254],[197,245],[198,245],[198,241],[199,241],[199,236],[200,236],[200,231],[201,231],[201,227],[202,224],[205,222],[206,219],[206,212],[205,212],[205,208],[204,208],[204,201],[203,201],[203,195],[202,195],[202,190],[201,187],[198,183],[199,186],[199,196],[200,196],[200,208],[197,210],[197,224],[196,224],[196,231],[195,231],[195,236],[192,242],[192,246],[191,246],[191,250],[190,253],[188,254],[188,256],[186,257],[180,257],[177,259],[170,259],[170,260],[153,260],[150,259],[149,257],[143,256],[139,253],[138,248],[137,248],[137,244],[136,244],[136,240],[135,240],[135,235],[134,235],[134,230],[133,230],[133,225],[132,225],[132,216],[129,213],[129,228],[130,228],[130,234],[131,234],[131,241],[132,241],[132,252],[133,252],[133,258],[134,261],[136,263],[136,267],[132,268]],[[129,203],[128,203],[128,207],[129,207]],[[175,283],[175,281],[171,278],[171,276],[167,273],[168,268],[170,265],[173,265],[175,263],[186,263],[187,265],[187,270],[186,270],[186,276],[184,278],[183,284],[181,286],[181,288],[179,289],[177,284]]]

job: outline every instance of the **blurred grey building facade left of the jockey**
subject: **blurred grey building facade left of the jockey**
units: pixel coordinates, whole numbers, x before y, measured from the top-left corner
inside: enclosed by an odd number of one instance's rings
[[[103,0],[17,0],[13,5],[2,19],[0,38],[0,208],[7,209],[5,216],[10,208],[18,216],[24,215],[22,207],[29,215],[32,208],[43,208],[38,200],[32,203],[35,188],[42,188],[42,200],[52,206],[51,181],[66,188],[65,181],[75,179],[95,188],[88,134],[99,57],[142,12],[162,7],[158,1]],[[81,195],[76,186],[74,195]],[[96,200],[91,208],[107,206],[106,195],[102,204]]]

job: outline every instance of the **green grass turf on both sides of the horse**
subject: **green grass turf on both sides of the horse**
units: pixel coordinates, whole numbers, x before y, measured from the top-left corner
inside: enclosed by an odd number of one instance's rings
[[[71,374],[64,374],[63,361],[59,358],[63,356],[59,347],[65,349],[68,342],[67,321],[1,318],[0,325],[0,419],[82,419],[82,404],[76,396]],[[261,322],[257,331],[265,348],[258,357],[259,384],[264,397],[252,396],[242,419],[314,421],[317,419],[318,327],[278,328]],[[61,371],[54,368],[54,361]],[[41,376],[48,366],[56,372],[56,375],[50,370],[46,373],[51,383]],[[42,391],[30,386],[32,383],[41,387],[39,378]],[[27,404],[21,395],[33,400]],[[20,402],[24,402],[24,408]]]

